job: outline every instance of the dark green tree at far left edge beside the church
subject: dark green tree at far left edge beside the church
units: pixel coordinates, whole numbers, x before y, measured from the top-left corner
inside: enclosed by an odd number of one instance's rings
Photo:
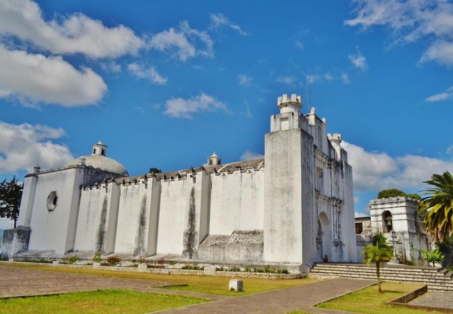
[[[14,220],[14,227],[19,218],[20,200],[24,185],[13,177],[10,181],[4,179],[0,183],[0,217]]]

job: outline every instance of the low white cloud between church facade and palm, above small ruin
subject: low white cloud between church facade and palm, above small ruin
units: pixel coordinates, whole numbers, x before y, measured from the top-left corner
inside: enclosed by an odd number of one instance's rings
[[[341,145],[348,151],[348,162],[353,167],[356,191],[386,188],[424,188],[423,181],[432,174],[453,171],[453,161],[425,156],[391,157],[385,152],[365,151],[348,142]]]

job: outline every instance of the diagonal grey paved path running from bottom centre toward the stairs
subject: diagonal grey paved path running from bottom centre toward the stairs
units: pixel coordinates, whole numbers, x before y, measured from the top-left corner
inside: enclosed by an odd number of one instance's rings
[[[288,313],[299,310],[310,313],[348,313],[341,311],[314,308],[323,301],[328,301],[343,294],[362,289],[376,281],[355,279],[331,279],[309,283],[298,287],[249,294],[243,297],[231,297],[194,306],[174,308],[158,313]]]

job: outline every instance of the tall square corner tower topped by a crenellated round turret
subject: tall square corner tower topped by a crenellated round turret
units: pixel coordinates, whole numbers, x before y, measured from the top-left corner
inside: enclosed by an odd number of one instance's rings
[[[314,211],[314,141],[305,130],[307,118],[299,112],[302,97],[284,94],[277,107],[280,112],[270,117],[265,139],[263,257],[305,264],[304,235],[313,228],[306,216]]]

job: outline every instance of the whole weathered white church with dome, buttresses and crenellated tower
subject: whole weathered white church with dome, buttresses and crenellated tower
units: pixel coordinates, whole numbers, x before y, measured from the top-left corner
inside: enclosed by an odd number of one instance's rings
[[[355,262],[352,168],[295,94],[277,100],[265,156],[131,177],[98,142],[64,167],[24,179],[19,227],[3,257],[176,256],[204,262]]]

